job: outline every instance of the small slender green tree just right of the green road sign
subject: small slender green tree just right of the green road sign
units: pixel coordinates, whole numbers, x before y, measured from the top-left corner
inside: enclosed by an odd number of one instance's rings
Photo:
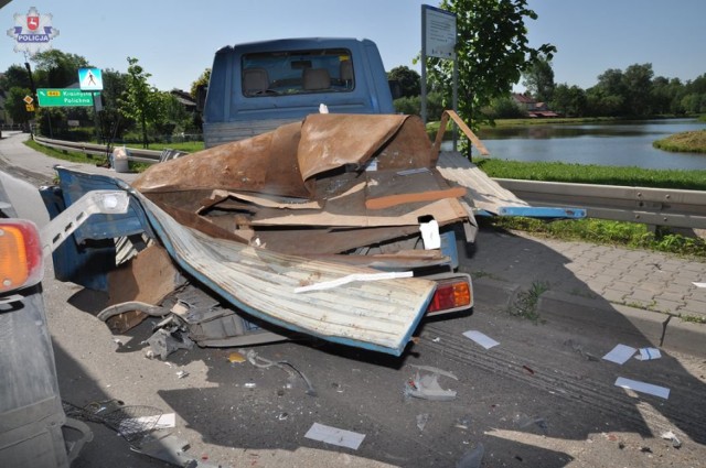
[[[127,87],[120,99],[120,112],[140,126],[142,130],[142,146],[149,148],[147,139],[147,124],[157,120],[159,107],[156,106],[157,89],[151,87],[147,79],[152,76],[145,72],[137,58],[128,57]]]

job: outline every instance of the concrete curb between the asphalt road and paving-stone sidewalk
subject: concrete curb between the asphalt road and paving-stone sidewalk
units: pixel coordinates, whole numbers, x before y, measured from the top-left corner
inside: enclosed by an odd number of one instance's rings
[[[473,291],[477,306],[492,305],[496,312],[503,312],[512,305],[521,286],[481,277],[473,281]],[[559,291],[542,294],[537,312],[547,323],[580,335],[618,334],[646,341],[645,346],[706,358],[706,325],[682,322],[675,316]]]

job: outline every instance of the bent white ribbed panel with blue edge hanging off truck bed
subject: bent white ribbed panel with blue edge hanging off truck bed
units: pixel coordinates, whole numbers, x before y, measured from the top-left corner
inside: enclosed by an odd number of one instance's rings
[[[436,287],[431,281],[410,277],[296,293],[300,286],[379,272],[214,239],[135,195],[184,270],[246,313],[295,331],[399,356]]]

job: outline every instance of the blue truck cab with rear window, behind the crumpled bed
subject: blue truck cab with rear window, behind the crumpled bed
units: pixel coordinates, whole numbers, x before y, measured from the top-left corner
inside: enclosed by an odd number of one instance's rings
[[[312,37],[223,47],[203,108],[204,144],[275,130],[321,105],[331,113],[395,113],[374,42]]]

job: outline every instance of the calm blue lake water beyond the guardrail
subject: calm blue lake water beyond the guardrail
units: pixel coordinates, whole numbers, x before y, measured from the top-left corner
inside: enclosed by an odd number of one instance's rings
[[[706,123],[694,119],[671,119],[495,128],[478,134],[491,157],[503,160],[706,170],[706,154],[670,153],[652,148],[655,140],[703,129]]]

